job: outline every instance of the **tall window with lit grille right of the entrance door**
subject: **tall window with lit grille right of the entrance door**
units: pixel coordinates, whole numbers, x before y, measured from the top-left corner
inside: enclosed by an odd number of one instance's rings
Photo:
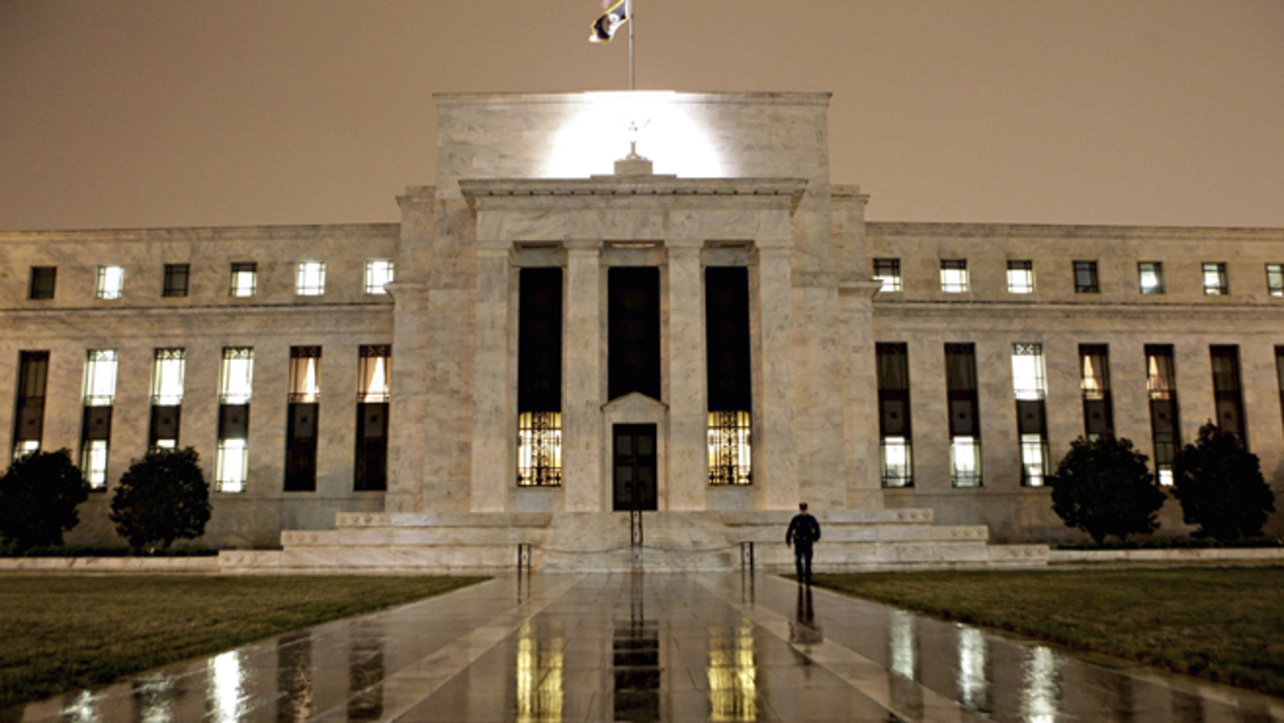
[[[705,268],[705,349],[709,484],[751,484],[749,268]]]

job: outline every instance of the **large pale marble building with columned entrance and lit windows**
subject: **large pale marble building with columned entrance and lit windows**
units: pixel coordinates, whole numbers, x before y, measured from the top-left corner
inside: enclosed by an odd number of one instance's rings
[[[1279,467],[1284,230],[865,223],[827,103],[442,95],[401,223],[0,234],[0,437],[99,488],[194,446],[241,547],[800,500],[1041,539],[1076,435],[1163,475],[1206,419]],[[611,173],[630,122],[660,173]]]

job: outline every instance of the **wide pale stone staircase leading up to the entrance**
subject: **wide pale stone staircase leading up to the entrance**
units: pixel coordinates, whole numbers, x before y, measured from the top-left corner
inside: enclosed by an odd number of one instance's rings
[[[281,550],[223,551],[227,573],[467,574],[515,570],[520,546],[546,571],[794,569],[791,511],[643,512],[641,548],[627,512],[342,512],[333,530],[285,530]],[[990,544],[984,525],[936,525],[932,510],[818,515],[819,571],[1043,566],[1043,544]]]

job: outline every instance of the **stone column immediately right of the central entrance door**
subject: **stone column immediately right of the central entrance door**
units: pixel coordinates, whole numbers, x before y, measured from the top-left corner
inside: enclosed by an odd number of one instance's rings
[[[668,509],[701,510],[709,487],[705,295],[700,240],[669,241]]]

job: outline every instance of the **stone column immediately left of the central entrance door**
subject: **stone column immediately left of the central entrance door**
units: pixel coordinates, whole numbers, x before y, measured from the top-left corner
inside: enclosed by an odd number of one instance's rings
[[[562,487],[569,512],[602,510],[602,243],[568,240]]]

